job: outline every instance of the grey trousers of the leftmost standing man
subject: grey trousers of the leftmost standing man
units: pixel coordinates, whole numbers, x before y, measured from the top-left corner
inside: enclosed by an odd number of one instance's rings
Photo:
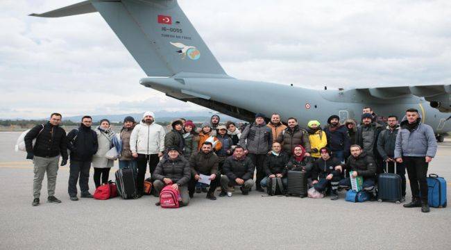
[[[58,162],[60,156],[55,156],[51,158],[45,158],[40,156],[35,156],[33,158],[33,172],[35,173],[35,178],[33,178],[33,197],[39,198],[41,195],[42,180],[44,179],[44,174],[47,172],[47,192],[49,197],[55,196],[55,186],[56,186],[56,175],[58,174]]]

